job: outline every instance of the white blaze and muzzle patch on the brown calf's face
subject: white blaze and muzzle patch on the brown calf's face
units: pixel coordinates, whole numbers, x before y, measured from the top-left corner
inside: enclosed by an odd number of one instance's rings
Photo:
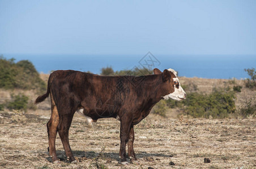
[[[178,80],[178,78],[173,78],[173,81],[178,82],[180,86],[178,88],[176,88],[176,84],[174,84],[174,92],[172,92],[169,95],[163,96],[164,99],[165,100],[173,99],[173,100],[178,100],[178,101],[186,99],[186,92],[181,87],[181,84],[180,84],[180,81]]]

